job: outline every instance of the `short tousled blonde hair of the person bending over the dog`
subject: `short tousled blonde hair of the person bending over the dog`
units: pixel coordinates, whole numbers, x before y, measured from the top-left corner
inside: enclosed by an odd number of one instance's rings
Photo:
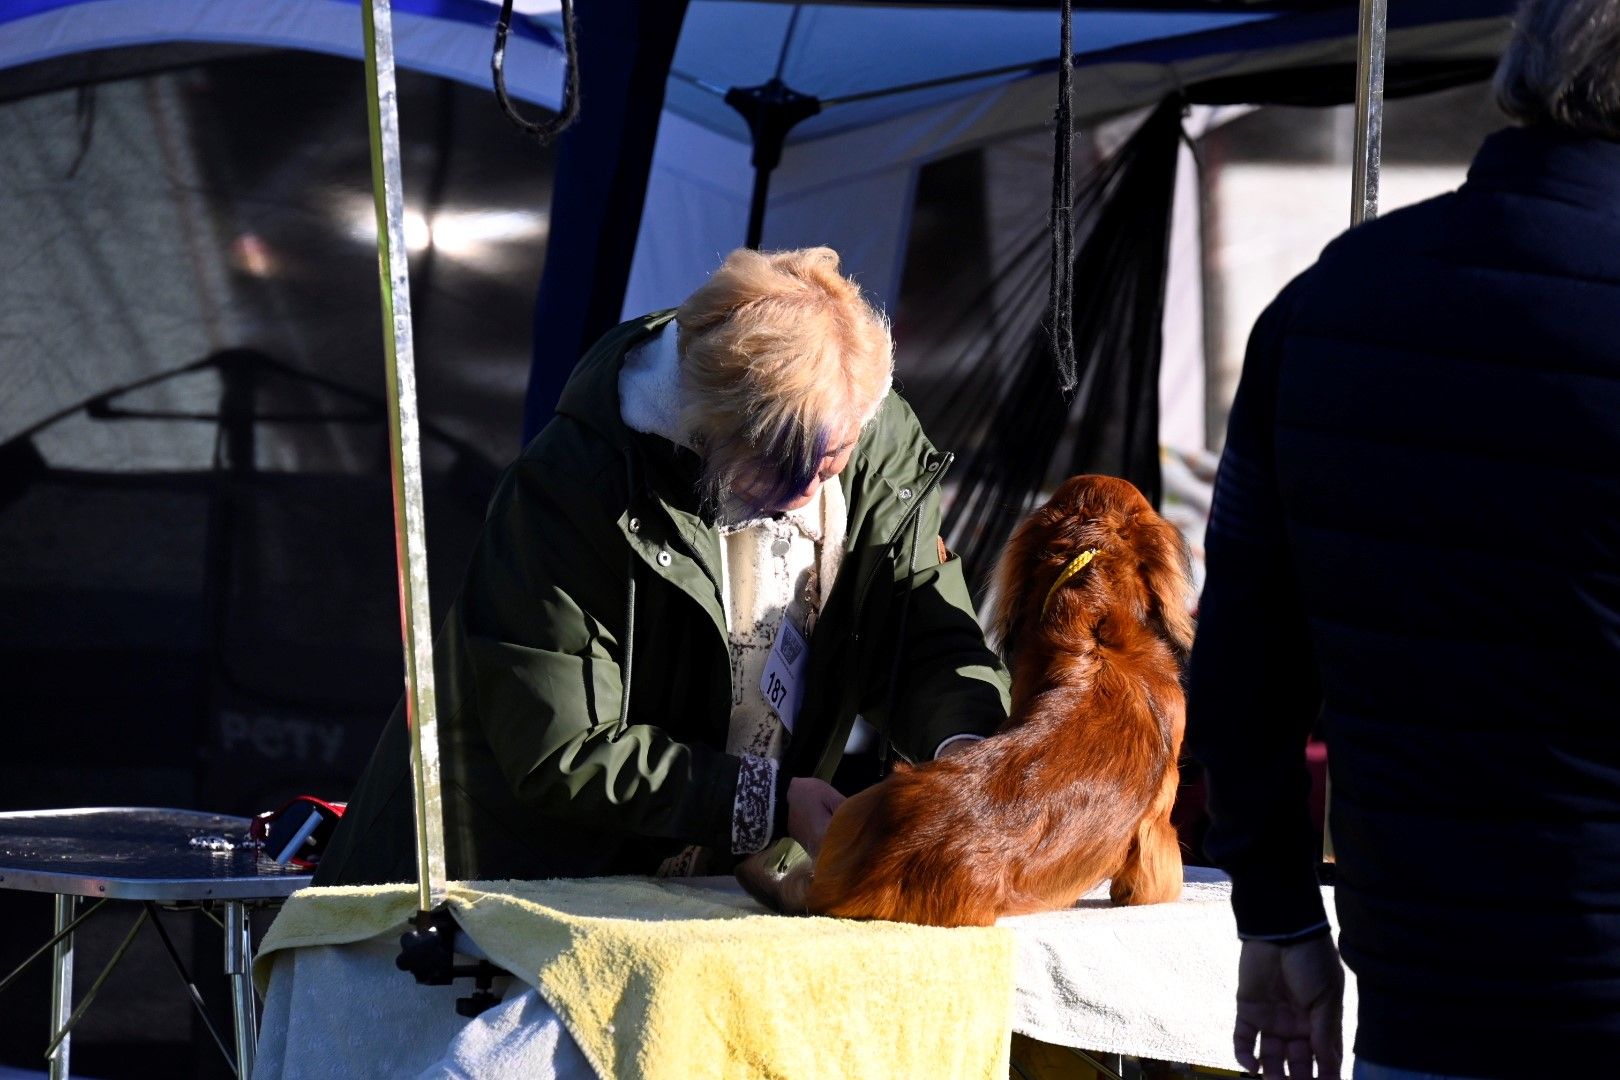
[[[682,427],[718,507],[745,468],[773,481],[770,510],[808,487],[821,458],[888,393],[888,321],[839,274],[831,248],[726,256],[676,313]]]

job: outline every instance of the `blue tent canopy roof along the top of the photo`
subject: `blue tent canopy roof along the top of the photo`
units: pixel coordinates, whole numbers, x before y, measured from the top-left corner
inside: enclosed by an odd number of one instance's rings
[[[363,55],[360,0],[21,0],[0,11],[0,71],[92,50],[207,42]],[[497,0],[395,0],[402,66],[489,84]],[[556,107],[561,94],[557,0],[520,0],[507,84]],[[1113,0],[1079,3],[1076,63],[1108,68],[1077,83],[1077,113],[1103,117],[1150,104],[1165,86],[1234,70],[1320,62],[1353,47],[1346,0]],[[1392,57],[1490,55],[1513,0],[1403,0],[1390,11]],[[588,8],[580,11],[588,28]],[[880,125],[951,100],[1042,79],[1056,65],[1050,0],[995,8],[940,0],[786,3],[692,0],[666,107],[710,131],[748,141],[724,102],[731,87],[781,78],[823,102],[789,142]],[[1142,78],[1144,68],[1158,78]],[[1115,71],[1118,70],[1118,74]],[[1168,73],[1168,78],[1165,76]],[[1047,110],[1050,112],[1050,105]],[[1043,121],[1025,118],[1025,121]]]

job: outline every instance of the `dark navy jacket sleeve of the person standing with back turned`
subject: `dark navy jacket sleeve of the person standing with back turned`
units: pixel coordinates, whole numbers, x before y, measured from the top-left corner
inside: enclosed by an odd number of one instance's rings
[[[1298,283],[1249,338],[1215,479],[1187,677],[1187,746],[1205,769],[1205,852],[1233,879],[1243,938],[1327,921],[1304,745],[1322,704],[1275,465],[1283,334]]]

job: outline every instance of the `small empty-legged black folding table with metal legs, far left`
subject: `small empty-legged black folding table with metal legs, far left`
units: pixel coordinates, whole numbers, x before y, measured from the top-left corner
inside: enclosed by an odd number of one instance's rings
[[[222,908],[235,1062],[240,1077],[253,1072],[256,1023],[249,976],[249,908],[287,899],[309,884],[309,873],[261,860],[256,848],[243,845],[246,839],[246,818],[194,810],[99,806],[0,813],[0,889],[47,892],[55,897],[57,933],[0,981],[3,989],[24,967],[47,950],[55,950],[50,975],[52,1080],[68,1075],[73,1025],[123,959],[141,923],[152,921],[170,959],[185,975],[180,954],[157,921],[157,907],[198,908],[211,918],[214,907]],[[78,907],[84,899],[92,904],[79,913]],[[109,900],[139,904],[141,913],[75,1007],[73,931]],[[186,981],[191,981],[190,976]],[[196,999],[194,988],[191,993]],[[198,1010],[201,1012],[199,1001]],[[212,1031],[212,1025],[209,1030]],[[219,1041],[217,1033],[214,1038]],[[220,1051],[224,1049],[222,1043]]]

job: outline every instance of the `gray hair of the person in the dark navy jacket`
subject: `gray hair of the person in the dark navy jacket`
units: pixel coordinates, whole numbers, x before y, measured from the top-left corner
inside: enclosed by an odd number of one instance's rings
[[[1620,141],[1620,0],[1526,0],[1497,104],[1520,123]]]

